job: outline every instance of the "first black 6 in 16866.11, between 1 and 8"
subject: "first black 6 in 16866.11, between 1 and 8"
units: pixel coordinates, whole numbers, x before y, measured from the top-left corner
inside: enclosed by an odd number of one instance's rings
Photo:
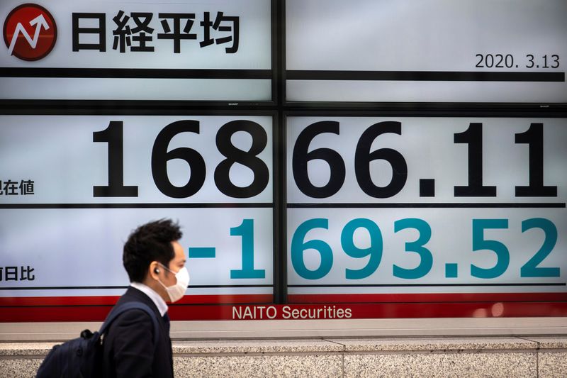
[[[169,123],[159,132],[152,148],[152,175],[154,182],[163,194],[172,198],[186,198],[196,194],[205,182],[205,160],[196,150],[176,148],[167,151],[172,138],[179,133],[199,133],[199,123],[193,120]],[[169,181],[167,162],[172,159],[185,160],[191,169],[189,182],[183,187],[176,187]]]

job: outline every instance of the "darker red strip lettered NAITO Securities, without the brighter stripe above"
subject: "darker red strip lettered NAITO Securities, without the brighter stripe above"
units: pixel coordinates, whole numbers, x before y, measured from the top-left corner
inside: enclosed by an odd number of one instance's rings
[[[108,306],[47,306],[1,308],[1,322],[103,321]],[[361,318],[490,318],[567,316],[567,302],[464,302],[407,304],[288,304],[169,306],[174,321],[361,319]]]

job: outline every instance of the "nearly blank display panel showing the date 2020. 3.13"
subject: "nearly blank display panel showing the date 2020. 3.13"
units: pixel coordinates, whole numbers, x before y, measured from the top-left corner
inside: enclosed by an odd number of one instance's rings
[[[567,102],[567,3],[286,0],[286,100]]]

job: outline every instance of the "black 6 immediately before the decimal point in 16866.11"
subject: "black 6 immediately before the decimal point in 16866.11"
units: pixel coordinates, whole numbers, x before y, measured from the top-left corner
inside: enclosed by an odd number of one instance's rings
[[[391,148],[381,148],[370,152],[374,139],[386,133],[402,135],[402,124],[394,121],[374,123],[362,133],[354,155],[354,171],[359,187],[364,193],[374,198],[395,196],[403,189],[408,179],[408,165],[400,152]],[[392,181],[386,187],[378,187],[372,182],[370,162],[373,160],[386,160],[392,166]]]

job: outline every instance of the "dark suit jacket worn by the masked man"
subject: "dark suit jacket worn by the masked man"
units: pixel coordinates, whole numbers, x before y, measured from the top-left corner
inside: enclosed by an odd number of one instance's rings
[[[165,321],[149,296],[129,287],[117,306],[138,301],[155,311],[159,323],[157,348],[150,315],[142,310],[128,310],[111,324],[103,340],[104,377],[173,377],[172,340]]]

